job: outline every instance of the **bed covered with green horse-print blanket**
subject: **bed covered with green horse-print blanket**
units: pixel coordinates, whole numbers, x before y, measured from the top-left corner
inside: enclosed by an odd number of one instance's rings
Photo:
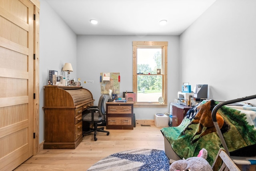
[[[212,111],[218,104],[214,100],[202,101],[186,113],[179,126],[161,129],[169,159],[193,157],[205,148],[207,161],[212,165],[219,149],[224,148],[212,121]],[[221,106],[216,112],[216,123],[230,155],[256,156],[256,107]]]

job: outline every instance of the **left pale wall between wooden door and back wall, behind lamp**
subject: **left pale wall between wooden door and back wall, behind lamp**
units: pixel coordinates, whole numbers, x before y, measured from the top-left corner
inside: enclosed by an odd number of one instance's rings
[[[44,85],[48,82],[49,70],[57,70],[60,74],[65,62],[71,63],[74,69],[70,78],[76,78],[76,34],[46,1],[40,0],[39,143],[44,141]]]

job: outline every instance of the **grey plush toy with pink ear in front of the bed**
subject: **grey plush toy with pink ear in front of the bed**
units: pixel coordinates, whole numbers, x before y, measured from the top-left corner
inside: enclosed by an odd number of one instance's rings
[[[206,158],[207,150],[203,148],[197,157],[174,161],[170,165],[170,171],[212,171],[212,167]]]

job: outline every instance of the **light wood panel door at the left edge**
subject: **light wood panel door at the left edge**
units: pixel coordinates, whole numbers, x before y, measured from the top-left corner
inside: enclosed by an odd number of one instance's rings
[[[33,155],[34,5],[0,0],[0,170]]]

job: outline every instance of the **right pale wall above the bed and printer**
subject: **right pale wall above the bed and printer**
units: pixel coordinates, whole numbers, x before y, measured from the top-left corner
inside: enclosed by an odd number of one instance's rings
[[[209,99],[256,94],[255,7],[255,0],[217,0],[180,36],[180,84],[208,84]]]

